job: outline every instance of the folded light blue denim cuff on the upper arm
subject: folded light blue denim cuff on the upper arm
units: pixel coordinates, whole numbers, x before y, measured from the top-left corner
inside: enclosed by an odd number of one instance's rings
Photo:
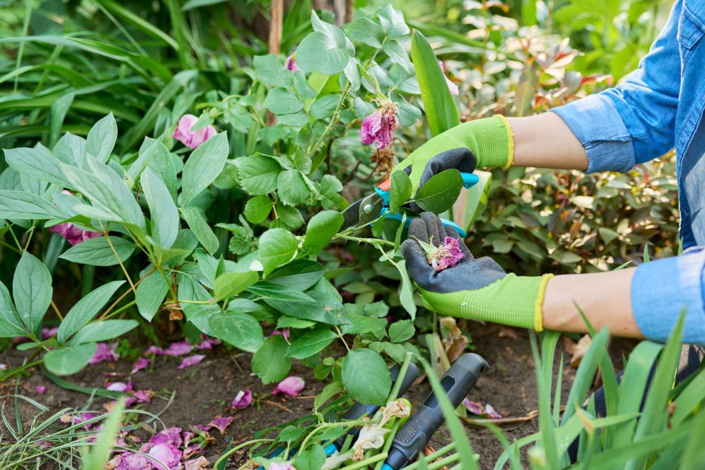
[[[565,121],[587,151],[587,173],[629,171],[635,164],[632,136],[612,101],[592,94],[551,109]]]

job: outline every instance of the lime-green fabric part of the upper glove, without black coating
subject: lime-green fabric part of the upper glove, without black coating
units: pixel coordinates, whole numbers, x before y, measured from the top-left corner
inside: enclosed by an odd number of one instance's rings
[[[512,130],[504,116],[500,115],[462,123],[412,151],[393,171],[411,167],[409,177],[416,191],[424,183],[422,175],[429,161],[453,149],[470,149],[479,168],[509,168],[514,156]]]

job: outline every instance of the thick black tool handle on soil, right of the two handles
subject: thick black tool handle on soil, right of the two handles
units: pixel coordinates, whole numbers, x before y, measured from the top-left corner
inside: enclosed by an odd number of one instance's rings
[[[446,390],[448,400],[453,404],[453,408],[458,407],[462,400],[470,392],[470,389],[477,383],[477,379],[489,369],[489,365],[482,357],[472,352],[463,354],[455,361],[455,364],[448,369],[448,372],[441,378],[443,390]],[[438,428],[443,424],[443,411],[439,400],[431,391],[426,401],[419,407],[418,411],[409,418],[409,421],[399,430],[389,456],[385,463],[393,470],[402,469],[421,452],[431,440]]]

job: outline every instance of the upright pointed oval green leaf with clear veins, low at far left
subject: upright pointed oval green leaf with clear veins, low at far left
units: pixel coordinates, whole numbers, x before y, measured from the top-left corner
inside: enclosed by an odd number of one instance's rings
[[[39,333],[52,292],[49,269],[25,250],[15,269],[12,294],[19,317],[28,331]]]

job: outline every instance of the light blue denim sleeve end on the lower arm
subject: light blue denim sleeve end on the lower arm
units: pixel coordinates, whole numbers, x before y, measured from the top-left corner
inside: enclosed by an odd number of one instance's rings
[[[705,251],[698,248],[637,268],[632,280],[632,311],[646,338],[666,341],[685,310],[683,341],[705,344],[703,266]]]

